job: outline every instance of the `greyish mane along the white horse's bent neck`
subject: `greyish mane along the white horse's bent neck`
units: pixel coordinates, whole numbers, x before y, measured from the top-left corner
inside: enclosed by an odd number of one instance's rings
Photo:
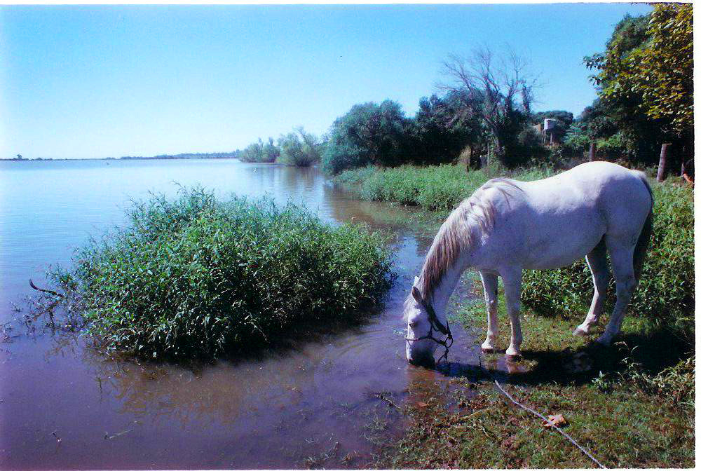
[[[442,224],[428,250],[419,275],[418,289],[426,299],[433,296],[433,290],[460,257],[461,252],[474,245],[476,228],[482,229],[482,233],[494,228],[494,200],[487,197],[486,190],[500,191],[508,202],[510,195],[505,186],[522,191],[513,180],[491,179],[472,193],[470,198],[463,200]]]

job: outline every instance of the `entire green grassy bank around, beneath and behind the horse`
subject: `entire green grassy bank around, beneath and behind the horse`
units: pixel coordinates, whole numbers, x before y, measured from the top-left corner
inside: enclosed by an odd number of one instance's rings
[[[519,170],[531,180],[547,169]],[[336,182],[362,198],[420,205],[445,215],[491,177],[441,167],[362,168]],[[524,273],[524,360],[504,364],[510,326],[500,294],[501,353],[482,355],[453,388],[430,400],[404,404],[410,418],[399,442],[386,443],[378,467],[592,467],[581,451],[540,420],[514,407],[496,390],[501,378],[517,400],[543,414],[563,414],[567,432],[609,467],[693,467],[693,191],[669,182],[653,184],[655,232],[637,293],[611,348],[571,334],[592,296],[584,261],[554,271]],[[482,286],[474,278],[477,299]],[[611,287],[613,287],[613,282]],[[610,313],[615,292],[610,293]],[[456,313],[481,342],[486,331],[482,301]],[[604,318],[604,322],[608,320]],[[597,327],[592,338],[603,332]],[[501,365],[497,369],[497,364]],[[509,374],[503,374],[508,369]]]

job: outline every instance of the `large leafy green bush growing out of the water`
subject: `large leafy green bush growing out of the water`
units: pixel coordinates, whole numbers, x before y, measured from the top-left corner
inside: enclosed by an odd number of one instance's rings
[[[202,189],[135,203],[131,224],[79,250],[53,279],[107,351],[212,357],[300,322],[353,318],[388,287],[379,235],[294,205]]]

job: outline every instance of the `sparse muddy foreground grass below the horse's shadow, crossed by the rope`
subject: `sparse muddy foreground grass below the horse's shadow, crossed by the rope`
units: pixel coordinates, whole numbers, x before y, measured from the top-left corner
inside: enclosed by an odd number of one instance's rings
[[[407,406],[412,424],[374,465],[390,468],[582,468],[592,460],[540,419],[512,406],[488,381],[453,380],[428,407]],[[594,385],[505,385],[541,414],[562,414],[566,432],[606,467],[693,467],[693,409],[636,390]],[[456,404],[446,411],[442,402]]]

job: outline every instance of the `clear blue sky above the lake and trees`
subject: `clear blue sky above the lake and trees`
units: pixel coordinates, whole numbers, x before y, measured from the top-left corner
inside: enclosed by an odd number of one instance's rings
[[[536,111],[595,97],[582,58],[632,4],[0,7],[0,156],[230,151],[359,102],[412,116],[440,62],[530,57]]]

